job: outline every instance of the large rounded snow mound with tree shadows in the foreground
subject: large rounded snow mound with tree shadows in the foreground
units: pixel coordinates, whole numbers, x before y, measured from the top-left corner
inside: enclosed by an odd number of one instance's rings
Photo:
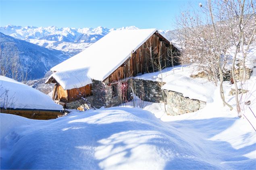
[[[0,114],[4,169],[219,169],[200,142],[148,111],[113,107],[50,121]],[[14,127],[20,119],[24,124]],[[27,123],[31,121],[31,123]],[[226,167],[225,167],[226,168]]]

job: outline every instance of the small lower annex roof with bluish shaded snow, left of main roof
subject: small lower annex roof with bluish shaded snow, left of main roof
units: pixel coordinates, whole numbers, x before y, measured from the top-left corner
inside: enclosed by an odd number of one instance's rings
[[[64,90],[72,88],[80,88],[92,83],[92,79],[87,75],[89,68],[80,68],[75,70],[66,70],[54,72],[47,80],[46,83],[55,79]]]

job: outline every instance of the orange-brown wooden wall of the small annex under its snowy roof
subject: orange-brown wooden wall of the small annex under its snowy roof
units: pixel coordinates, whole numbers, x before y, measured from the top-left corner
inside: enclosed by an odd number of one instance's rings
[[[92,95],[92,84],[80,88],[72,88],[70,90],[64,90],[60,84],[55,84],[52,98],[54,100],[60,100],[62,102],[72,102],[82,97]]]

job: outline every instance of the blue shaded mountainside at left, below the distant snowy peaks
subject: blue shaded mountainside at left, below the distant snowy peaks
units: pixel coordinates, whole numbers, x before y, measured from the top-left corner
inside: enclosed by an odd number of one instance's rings
[[[0,33],[0,59],[19,58],[19,71],[27,79],[42,78],[53,66],[69,58],[69,55],[55,49],[47,49],[33,43],[15,39]]]

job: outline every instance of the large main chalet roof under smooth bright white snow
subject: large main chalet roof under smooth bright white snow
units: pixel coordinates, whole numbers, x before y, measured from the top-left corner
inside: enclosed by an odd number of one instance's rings
[[[111,31],[102,39],[77,55],[54,66],[56,72],[88,68],[87,76],[94,80],[106,79],[123,64],[156,29]],[[79,77],[80,78],[80,77]]]

